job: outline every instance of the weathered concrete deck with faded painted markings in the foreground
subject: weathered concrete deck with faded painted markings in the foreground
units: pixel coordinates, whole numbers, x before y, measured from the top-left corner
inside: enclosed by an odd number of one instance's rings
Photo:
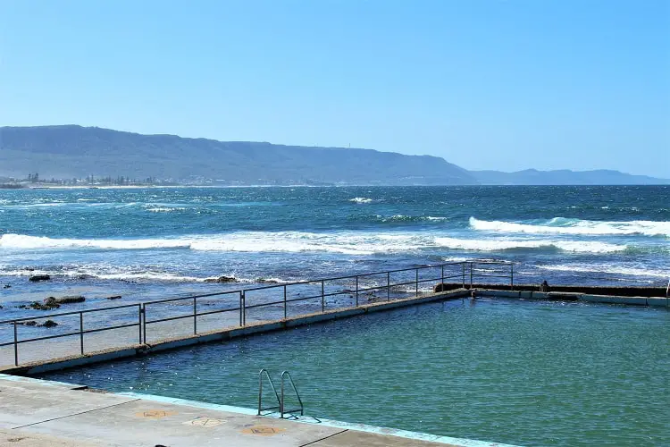
[[[502,446],[336,421],[257,417],[234,409],[0,375],[0,445]]]

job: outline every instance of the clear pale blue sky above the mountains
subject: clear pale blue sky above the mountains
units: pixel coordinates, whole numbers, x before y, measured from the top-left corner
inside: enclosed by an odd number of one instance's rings
[[[0,125],[670,177],[670,0],[0,0]]]

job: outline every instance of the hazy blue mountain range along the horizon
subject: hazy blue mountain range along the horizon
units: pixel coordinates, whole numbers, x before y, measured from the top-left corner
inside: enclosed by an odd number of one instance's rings
[[[126,176],[222,184],[670,184],[617,171],[467,171],[437,156],[142,135],[96,127],[0,127],[0,176]]]

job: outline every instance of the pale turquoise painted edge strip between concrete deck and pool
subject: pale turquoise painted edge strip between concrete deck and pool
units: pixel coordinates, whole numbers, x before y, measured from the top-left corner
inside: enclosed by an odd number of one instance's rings
[[[63,389],[66,391],[90,391],[91,389],[86,385],[80,384],[68,384],[65,382],[55,382],[43,379],[37,379],[34,377],[23,377],[19,375],[5,375],[0,374],[0,381],[10,381],[15,383],[25,383],[32,384],[37,386],[50,387],[55,389]],[[208,409],[214,411],[221,411],[226,413],[235,413],[240,416],[247,417],[256,417],[255,409],[247,409],[243,407],[236,407],[224,404],[215,404],[203,401],[190,401],[179,398],[172,398],[166,396],[158,396],[153,394],[143,394],[138,392],[105,392],[106,395],[110,396],[119,396],[130,398],[134,401],[153,401],[156,403],[170,404],[180,407],[193,407],[197,409]],[[85,396],[85,394],[80,395],[80,397]],[[272,414],[264,415],[268,419],[277,419],[278,417],[273,417]],[[302,418],[285,418],[281,419],[287,423],[295,424],[304,424],[308,426],[327,426],[331,428],[338,428],[342,430],[352,430],[356,432],[364,432],[369,434],[379,434],[381,436],[394,436],[398,438],[405,438],[407,440],[423,441],[429,443],[443,443],[446,445],[455,445],[460,447],[515,447],[513,444],[504,444],[504,443],[495,443],[487,441],[478,441],[465,438],[455,438],[451,436],[442,436],[439,434],[427,434],[419,432],[411,432],[406,430],[400,430],[395,428],[381,427],[381,426],[368,426],[364,424],[355,424],[348,423],[333,419],[326,419],[320,417],[302,417]]]

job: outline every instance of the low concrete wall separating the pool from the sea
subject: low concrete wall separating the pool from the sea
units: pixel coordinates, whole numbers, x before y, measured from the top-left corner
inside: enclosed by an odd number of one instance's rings
[[[565,288],[564,288],[565,289]],[[394,308],[404,308],[415,306],[432,301],[448,299],[464,299],[466,297],[490,297],[503,299],[539,299],[539,300],[560,300],[560,301],[582,301],[590,303],[618,304],[629,306],[653,306],[670,308],[670,298],[662,297],[630,297],[630,296],[608,296],[582,293],[575,288],[575,291],[505,291],[493,288],[487,289],[456,289],[451,291],[440,291],[420,297],[407,299],[396,299],[388,302],[376,302],[361,305],[357,308],[340,308],[337,310],[326,311],[304,316],[289,317],[281,320],[259,322],[244,327],[229,328],[212,331],[209,333],[198,333],[186,337],[166,338],[157,342],[134,344],[121,348],[109,350],[97,350],[84,355],[75,355],[71,357],[52,358],[42,361],[29,362],[19,366],[0,367],[0,373],[13,375],[35,375],[48,371],[65,369],[70,367],[80,367],[94,363],[111,361],[117,358],[129,358],[157,352],[161,350],[173,350],[208,342],[224,342],[238,337],[246,337],[261,333],[270,333],[274,331],[287,330],[293,327],[312,325],[315,323],[331,321],[352,316],[361,316],[372,312],[380,312]]]

